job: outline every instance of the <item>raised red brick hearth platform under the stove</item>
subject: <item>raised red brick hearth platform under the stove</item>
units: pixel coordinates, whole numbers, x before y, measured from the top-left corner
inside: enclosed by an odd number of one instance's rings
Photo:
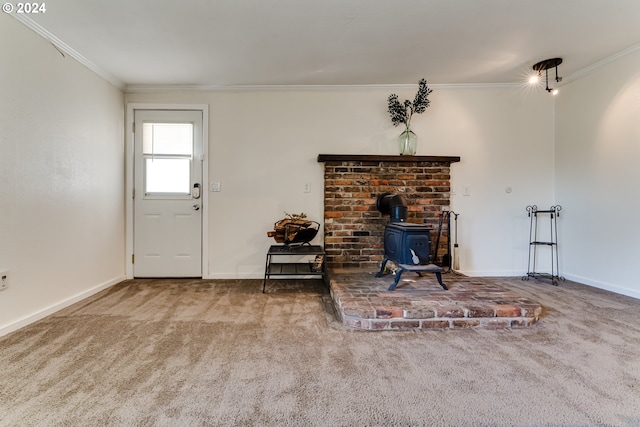
[[[334,270],[331,297],[345,326],[364,330],[504,329],[536,323],[542,306],[518,295],[513,278],[443,275],[445,291],[433,274],[404,273],[401,284],[387,288],[393,276]]]

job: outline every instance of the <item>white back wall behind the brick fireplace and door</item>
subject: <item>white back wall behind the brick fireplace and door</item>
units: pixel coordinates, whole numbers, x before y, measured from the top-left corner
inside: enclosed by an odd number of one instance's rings
[[[427,76],[428,77],[428,76]],[[417,89],[417,85],[416,85]],[[320,153],[397,154],[389,88],[130,93],[127,102],[209,104],[209,277],[261,277],[266,232],[289,213],[323,220]],[[398,92],[413,99],[415,89]],[[553,101],[519,87],[436,87],[415,116],[418,155],[452,167],[462,270],[527,271],[525,206],[553,202]],[[311,193],[304,193],[304,184]],[[507,194],[505,187],[511,186]],[[470,195],[463,196],[464,187]],[[318,240],[321,239],[321,236]]]

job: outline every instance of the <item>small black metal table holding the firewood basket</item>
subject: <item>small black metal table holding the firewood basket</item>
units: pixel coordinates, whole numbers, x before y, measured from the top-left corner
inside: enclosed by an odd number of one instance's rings
[[[277,262],[274,260],[274,257],[284,256],[290,258],[279,258]],[[313,259],[310,259],[307,262],[302,262],[301,258],[303,257],[313,257]],[[321,257],[319,265],[318,257]],[[265,292],[267,287],[267,280],[274,276],[279,278],[323,278],[326,283],[327,271],[324,262],[325,258],[326,254],[324,249],[319,245],[273,245],[269,247],[267,260],[265,261],[264,266],[262,293]]]

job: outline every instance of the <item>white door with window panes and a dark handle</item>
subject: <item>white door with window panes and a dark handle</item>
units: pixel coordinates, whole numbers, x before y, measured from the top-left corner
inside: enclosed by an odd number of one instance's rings
[[[134,122],[134,277],[202,277],[202,111]]]

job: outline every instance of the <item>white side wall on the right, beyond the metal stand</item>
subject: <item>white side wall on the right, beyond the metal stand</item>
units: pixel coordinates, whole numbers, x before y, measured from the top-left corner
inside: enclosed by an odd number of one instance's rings
[[[562,272],[640,298],[640,50],[563,86],[556,111]]]

